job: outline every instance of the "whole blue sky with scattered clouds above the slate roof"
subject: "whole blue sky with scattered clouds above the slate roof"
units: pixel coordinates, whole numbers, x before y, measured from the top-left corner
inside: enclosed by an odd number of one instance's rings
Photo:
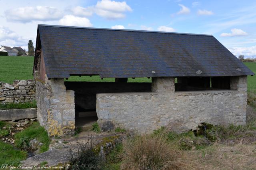
[[[0,45],[35,43],[38,23],[212,34],[256,58],[255,0],[0,0]]]

